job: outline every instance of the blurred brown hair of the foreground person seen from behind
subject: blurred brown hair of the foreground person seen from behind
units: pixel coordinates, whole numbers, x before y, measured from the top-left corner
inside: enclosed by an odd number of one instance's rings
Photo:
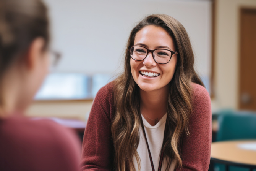
[[[38,37],[44,38],[46,49],[49,20],[41,0],[0,0],[0,79],[12,63],[25,59]]]

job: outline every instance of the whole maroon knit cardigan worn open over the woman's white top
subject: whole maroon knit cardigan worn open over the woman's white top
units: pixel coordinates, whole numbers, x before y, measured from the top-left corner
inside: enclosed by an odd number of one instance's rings
[[[193,86],[193,114],[190,116],[190,136],[183,136],[182,171],[207,171],[211,153],[211,100],[207,90]],[[84,132],[82,171],[109,171],[113,169],[114,146],[111,122],[115,117],[113,82],[97,93]],[[179,169],[177,169],[179,170]]]

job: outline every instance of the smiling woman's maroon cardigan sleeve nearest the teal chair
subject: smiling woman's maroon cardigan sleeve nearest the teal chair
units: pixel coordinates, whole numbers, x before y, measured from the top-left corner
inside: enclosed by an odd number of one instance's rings
[[[193,84],[193,113],[189,120],[189,133],[181,145],[181,171],[207,171],[211,154],[211,100],[207,90]],[[177,169],[180,171],[180,169]]]

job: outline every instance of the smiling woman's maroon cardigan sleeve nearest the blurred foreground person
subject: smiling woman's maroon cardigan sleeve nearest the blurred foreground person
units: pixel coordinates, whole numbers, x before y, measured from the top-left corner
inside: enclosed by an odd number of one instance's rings
[[[81,171],[109,171],[113,165],[110,112],[112,95],[107,86],[99,90],[84,132]]]

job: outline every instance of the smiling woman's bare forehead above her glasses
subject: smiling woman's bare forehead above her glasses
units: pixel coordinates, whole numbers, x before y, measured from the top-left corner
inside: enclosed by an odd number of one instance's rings
[[[169,33],[162,27],[148,25],[136,33],[134,45],[145,44],[152,49],[157,46],[168,46],[174,50],[174,43]]]

